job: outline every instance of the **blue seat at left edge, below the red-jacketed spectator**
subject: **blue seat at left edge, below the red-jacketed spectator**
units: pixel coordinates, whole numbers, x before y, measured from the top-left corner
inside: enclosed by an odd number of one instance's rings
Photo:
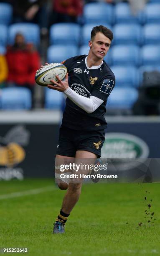
[[[31,108],[31,92],[27,88],[8,87],[2,90],[1,108],[22,110]]]

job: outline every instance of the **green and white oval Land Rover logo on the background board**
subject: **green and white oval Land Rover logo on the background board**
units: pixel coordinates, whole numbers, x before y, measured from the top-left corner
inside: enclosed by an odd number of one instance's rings
[[[148,155],[147,144],[135,135],[128,133],[107,133],[105,135],[102,158],[116,159],[116,164],[122,166],[123,171],[141,164]]]

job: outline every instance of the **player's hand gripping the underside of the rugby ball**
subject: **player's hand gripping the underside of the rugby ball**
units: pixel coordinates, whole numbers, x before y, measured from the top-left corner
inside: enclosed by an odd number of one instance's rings
[[[64,92],[67,90],[67,88],[69,87],[69,73],[66,74],[66,79],[64,81],[62,81],[58,76],[56,76],[56,79],[58,80],[58,82],[55,82],[54,80],[51,80],[51,82],[54,85],[48,84],[47,87],[49,89],[53,89],[59,92]]]

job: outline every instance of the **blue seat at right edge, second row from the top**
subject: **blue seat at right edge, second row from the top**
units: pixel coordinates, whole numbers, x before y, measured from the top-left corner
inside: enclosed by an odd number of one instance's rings
[[[144,44],[160,45],[160,24],[146,24],[143,27]]]

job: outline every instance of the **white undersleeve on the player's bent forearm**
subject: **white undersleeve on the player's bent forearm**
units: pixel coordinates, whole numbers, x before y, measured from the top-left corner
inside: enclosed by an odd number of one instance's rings
[[[87,113],[94,112],[103,102],[95,96],[90,96],[90,98],[86,98],[78,93],[74,92],[70,87],[64,91],[64,94],[69,97],[71,101],[73,101],[79,108],[82,108]]]

